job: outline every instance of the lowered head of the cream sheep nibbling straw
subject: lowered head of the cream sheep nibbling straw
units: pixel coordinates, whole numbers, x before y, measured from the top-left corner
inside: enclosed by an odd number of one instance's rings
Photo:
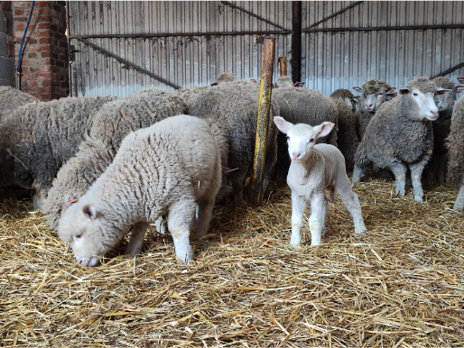
[[[60,218],[58,234],[70,244],[76,261],[90,267],[97,266],[100,257],[115,248],[122,235],[90,204],[70,206]]]

